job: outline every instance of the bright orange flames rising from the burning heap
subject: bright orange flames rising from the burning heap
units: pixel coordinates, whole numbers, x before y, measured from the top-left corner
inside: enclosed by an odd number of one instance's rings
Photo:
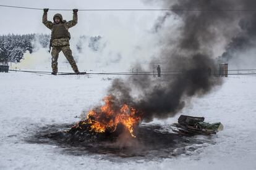
[[[108,95],[103,101],[105,105],[90,110],[87,115],[87,120],[82,121],[82,124],[90,124],[91,131],[99,133],[106,131],[114,132],[117,129],[117,125],[122,124],[129,130],[132,137],[136,137],[134,127],[137,126],[141,120],[139,111],[127,104],[117,107],[114,105],[114,97],[112,95]],[[78,126],[77,124],[75,127]]]

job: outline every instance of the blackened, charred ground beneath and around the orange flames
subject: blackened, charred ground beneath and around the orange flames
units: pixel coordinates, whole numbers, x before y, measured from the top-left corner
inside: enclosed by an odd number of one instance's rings
[[[26,142],[33,144],[51,144],[63,148],[70,155],[103,156],[107,160],[114,158],[140,158],[152,160],[172,158],[202,147],[200,144],[215,144],[214,136],[203,138],[186,137],[169,132],[159,125],[140,124],[136,129],[137,137],[130,137],[121,131],[98,133],[89,128],[70,131],[71,124],[53,124],[35,129]],[[122,127],[119,127],[122,129]],[[168,127],[171,128],[171,127]],[[194,145],[199,144],[199,145]]]

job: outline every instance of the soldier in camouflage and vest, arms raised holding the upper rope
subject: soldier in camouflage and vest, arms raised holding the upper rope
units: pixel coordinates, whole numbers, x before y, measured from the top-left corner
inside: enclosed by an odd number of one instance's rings
[[[48,10],[49,9],[43,9],[43,24],[51,30],[50,46],[53,47],[51,51],[51,68],[53,69],[53,72],[51,74],[57,75],[58,73],[58,57],[59,52],[62,51],[74,72],[79,75],[80,72],[77,68],[77,64],[75,63],[74,57],[72,56],[72,51],[69,47],[70,33],[68,31],[69,28],[77,24],[78,9],[73,9],[73,20],[70,20],[69,22],[62,20],[61,14],[55,14],[53,17],[54,23],[47,20]]]

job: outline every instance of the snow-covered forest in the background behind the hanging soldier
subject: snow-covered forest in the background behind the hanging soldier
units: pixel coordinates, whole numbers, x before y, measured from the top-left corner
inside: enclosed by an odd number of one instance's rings
[[[77,51],[82,51],[82,44],[87,41],[88,36],[80,36],[76,44]],[[50,34],[7,34],[0,36],[0,63],[20,62],[23,54],[33,52],[36,41],[43,48],[49,48]],[[88,38],[88,47],[93,51],[99,50],[101,36]]]

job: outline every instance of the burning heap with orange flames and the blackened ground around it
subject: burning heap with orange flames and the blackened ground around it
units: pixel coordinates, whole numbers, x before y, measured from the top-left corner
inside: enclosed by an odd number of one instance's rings
[[[118,99],[113,95],[103,100],[105,104],[90,110],[87,119],[72,127],[70,124],[43,127],[28,141],[59,145],[65,153],[74,155],[96,153],[111,155],[111,158],[115,155],[143,159],[171,158],[197,150],[193,144],[197,147],[215,144],[210,138],[171,133],[171,126],[163,128],[140,123],[142,112],[125,103],[117,104]]]

